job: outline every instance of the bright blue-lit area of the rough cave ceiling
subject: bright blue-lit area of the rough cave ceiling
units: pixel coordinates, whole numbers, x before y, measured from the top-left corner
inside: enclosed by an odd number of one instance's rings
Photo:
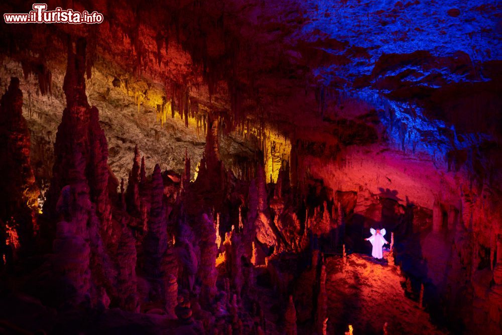
[[[322,49],[332,55],[343,55],[351,46],[362,47],[369,54],[369,59],[351,57],[352,61],[346,65],[311,69],[314,80],[320,85],[342,87],[346,96],[362,99],[379,110],[380,120],[396,149],[423,152],[444,160],[450,150],[489,140],[485,134],[462,134],[459,141],[453,126],[428,120],[417,105],[386,97],[384,94],[389,90],[385,87],[353,89],[351,85],[354,79],[371,75],[375,62],[383,54],[425,50],[431,57],[455,57],[460,51],[470,57],[472,68],[487,60],[502,59],[502,4],[488,0],[307,0],[304,8],[308,21],[297,38],[311,43],[329,38],[347,44],[338,50]],[[400,74],[403,74],[401,82],[408,86],[430,88],[487,80],[479,73],[457,73],[441,65],[408,64],[381,75]],[[378,79],[373,76],[369,80],[374,84]]]

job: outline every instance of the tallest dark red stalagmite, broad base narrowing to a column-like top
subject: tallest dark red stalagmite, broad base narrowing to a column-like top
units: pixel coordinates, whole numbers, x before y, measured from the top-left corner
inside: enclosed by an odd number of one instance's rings
[[[112,180],[108,178],[110,172],[107,167],[106,137],[99,124],[97,108],[90,107],[87,102],[84,70],[85,41],[79,39],[76,42],[76,53],[69,42],[63,83],[67,107],[63,111],[56,135],[53,178],[44,211],[47,207],[45,212],[49,220],[63,216],[65,221],[76,226],[75,231],[68,231],[64,228],[64,223],[60,224],[55,230],[57,236],[65,237],[64,241],[68,241],[67,233],[72,232],[72,239],[83,239],[88,244],[90,254],[87,256],[87,252],[83,252],[87,248],[85,244],[80,248],[82,252],[79,266],[82,271],[84,268],[90,270],[94,287],[88,290],[89,302],[91,305],[107,307],[109,299],[120,300],[117,294],[122,292],[134,297],[135,288],[130,283],[134,282],[131,269],[136,266],[135,251],[132,241],[127,242],[127,239],[122,241],[124,244],[118,244],[123,250],[117,249],[115,236],[119,236],[122,229],[127,228],[120,221],[114,222],[111,217],[108,186]],[[115,192],[117,186],[114,185]],[[51,228],[45,227],[48,236],[51,235]],[[54,242],[54,251],[60,257],[58,262],[64,263],[63,259],[66,257],[71,260],[72,253],[65,250],[61,243]],[[118,266],[117,262],[122,255],[126,255],[128,262]],[[117,269],[121,274],[119,277]],[[71,275],[65,271],[62,276],[72,281]],[[82,275],[82,278],[85,282],[86,277]],[[76,285],[80,287],[77,289],[80,295],[87,294],[81,289],[81,282]],[[77,297],[75,301],[79,299],[81,298]],[[131,305],[135,305],[134,301],[131,304],[124,303],[123,307],[135,309]]]

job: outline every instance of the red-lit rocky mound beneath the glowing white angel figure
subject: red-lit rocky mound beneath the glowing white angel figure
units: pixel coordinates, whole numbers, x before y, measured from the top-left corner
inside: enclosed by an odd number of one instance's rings
[[[384,253],[384,257],[388,254]],[[444,334],[430,321],[419,303],[405,294],[405,278],[397,267],[368,255],[351,254],[343,266],[340,257],[326,258],[326,292],[333,333],[381,334],[384,324],[393,334]]]

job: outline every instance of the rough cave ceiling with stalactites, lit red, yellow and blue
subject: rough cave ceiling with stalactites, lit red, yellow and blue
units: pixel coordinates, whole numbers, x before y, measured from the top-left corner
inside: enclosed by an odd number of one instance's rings
[[[293,145],[301,141],[304,152],[325,160],[343,161],[354,146],[367,145],[447,170],[448,157],[457,152],[491,150],[500,141],[500,18],[493,2],[73,5],[106,19],[98,27],[5,27],[4,71],[38,78],[34,90],[49,98],[37,94],[35,106],[37,99],[57,104],[51,96],[62,106],[58,85],[67,41],[84,37],[89,100],[108,105],[101,112],[102,123],[108,122],[103,128],[116,129],[108,133],[109,141],[117,142],[110,152],[128,149],[116,161],[110,159],[118,177],[127,176],[120,171],[135,144],[152,158],[147,159],[150,168],[155,160],[171,160],[163,167],[180,171],[186,143],[198,161],[208,114],[221,118],[221,131],[230,135],[225,141],[231,145],[222,146],[230,148],[229,160],[236,152],[244,152],[240,160],[254,159],[264,145],[250,144],[245,134],[262,139],[268,134]],[[26,2],[27,10],[30,6]],[[20,7],[2,4],[4,12]],[[117,109],[128,111],[131,122],[116,126]],[[53,110],[61,113],[62,108]],[[182,114],[189,122],[180,121]],[[54,133],[58,118],[53,119],[49,131]],[[120,133],[128,132],[130,123],[138,130],[129,131],[135,138],[124,144]],[[169,127],[176,131],[166,132]],[[163,153],[162,148],[170,149]]]

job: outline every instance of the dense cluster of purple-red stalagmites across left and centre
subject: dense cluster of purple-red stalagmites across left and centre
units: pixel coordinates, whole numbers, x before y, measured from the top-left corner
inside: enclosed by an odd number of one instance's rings
[[[107,165],[98,110],[87,102],[85,47],[84,40],[68,46],[63,86],[67,107],[40,220],[41,248],[50,243],[49,265],[62,290],[62,300],[53,304],[163,314],[199,332],[205,328],[214,333],[265,333],[254,268],[267,271],[269,248],[277,254],[309,243],[293,210],[294,199],[285,195],[289,181],[283,178],[288,171],[281,172],[271,195],[274,205],[269,206],[263,167],[249,186],[221,163],[215,119],[208,120],[206,150],[195,182],[190,182],[188,156],[181,176],[159,165],[147,176],[138,147],[128,180],[119,182]],[[2,99],[2,117],[8,119],[1,125],[6,128],[2,135],[8,135],[2,140],[8,143],[6,156],[22,154],[17,162],[24,179],[12,184],[25,187],[13,188],[13,193],[18,192],[16,201],[26,205],[30,222],[24,227],[30,227],[38,193],[21,107],[19,80],[13,79]],[[286,302],[288,295],[283,299]],[[284,327],[296,333],[292,300],[284,313],[285,321],[276,330]]]

